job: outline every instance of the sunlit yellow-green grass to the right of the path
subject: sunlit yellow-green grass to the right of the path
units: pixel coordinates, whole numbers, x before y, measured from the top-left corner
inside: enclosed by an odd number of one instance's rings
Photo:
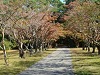
[[[100,55],[81,48],[71,48],[72,63],[76,75],[100,75]]]

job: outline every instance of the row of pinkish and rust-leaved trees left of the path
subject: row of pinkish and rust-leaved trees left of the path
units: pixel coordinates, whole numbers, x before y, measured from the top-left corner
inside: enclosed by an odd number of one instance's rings
[[[40,7],[39,4],[43,5]],[[24,57],[25,49],[29,50],[31,55],[33,52],[46,50],[59,36],[64,36],[62,25],[55,22],[58,16],[51,12],[55,8],[53,4],[51,5],[50,1],[46,0],[0,1],[1,48],[6,64],[8,63],[5,35],[16,42],[21,58]]]

